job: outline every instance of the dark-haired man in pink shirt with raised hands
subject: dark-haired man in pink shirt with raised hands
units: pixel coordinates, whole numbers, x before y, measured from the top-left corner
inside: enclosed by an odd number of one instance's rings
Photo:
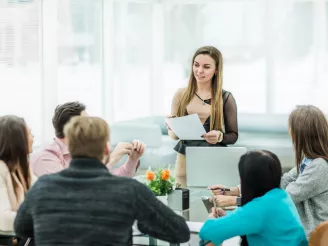
[[[68,102],[57,106],[52,119],[56,138],[43,151],[31,156],[31,168],[37,177],[56,173],[68,167],[71,155],[68,151],[63,129],[73,116],[88,116],[85,109],[85,105],[80,102]],[[145,145],[141,141],[119,143],[111,154],[110,162],[106,166],[115,175],[133,177],[140,165],[139,158],[144,151]],[[113,166],[126,154],[129,155],[127,162],[114,169]]]

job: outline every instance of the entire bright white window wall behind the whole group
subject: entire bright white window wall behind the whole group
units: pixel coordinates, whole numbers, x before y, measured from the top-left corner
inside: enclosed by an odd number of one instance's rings
[[[37,144],[67,101],[110,122],[167,115],[203,45],[221,50],[240,119],[328,113],[327,24],[327,0],[0,0],[1,115],[26,118]]]

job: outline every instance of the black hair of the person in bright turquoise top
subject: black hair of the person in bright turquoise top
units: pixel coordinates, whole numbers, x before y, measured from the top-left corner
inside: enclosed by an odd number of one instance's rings
[[[241,205],[254,198],[265,195],[272,189],[280,188],[281,163],[270,151],[249,151],[239,161],[241,182]],[[242,236],[241,245],[248,245],[246,236]]]

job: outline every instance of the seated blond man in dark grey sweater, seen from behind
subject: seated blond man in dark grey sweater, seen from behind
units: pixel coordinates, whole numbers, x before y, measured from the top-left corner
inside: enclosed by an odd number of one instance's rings
[[[65,126],[72,161],[43,175],[26,195],[14,223],[18,238],[35,245],[132,245],[132,225],[171,243],[187,242],[183,217],[138,181],[112,175],[109,128],[97,117],[74,117]]]

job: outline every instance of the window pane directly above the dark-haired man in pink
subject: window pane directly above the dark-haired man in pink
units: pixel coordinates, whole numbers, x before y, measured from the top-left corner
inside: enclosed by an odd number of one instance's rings
[[[57,0],[58,103],[102,114],[102,1]]]

